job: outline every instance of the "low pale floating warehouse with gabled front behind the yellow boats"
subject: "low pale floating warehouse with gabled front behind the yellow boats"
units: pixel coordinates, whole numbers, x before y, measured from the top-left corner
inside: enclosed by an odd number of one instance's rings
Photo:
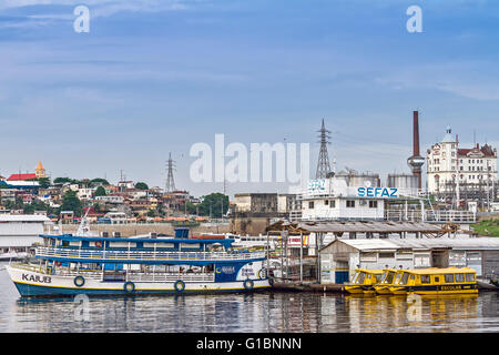
[[[344,283],[355,268],[468,266],[489,280],[499,273],[499,239],[335,240],[319,252],[320,283]]]

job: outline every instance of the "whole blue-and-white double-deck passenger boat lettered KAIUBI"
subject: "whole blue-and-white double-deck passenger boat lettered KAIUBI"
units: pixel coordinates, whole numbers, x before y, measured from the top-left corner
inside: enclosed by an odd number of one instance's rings
[[[40,235],[35,262],[7,271],[22,296],[145,295],[268,288],[265,252],[233,239]]]

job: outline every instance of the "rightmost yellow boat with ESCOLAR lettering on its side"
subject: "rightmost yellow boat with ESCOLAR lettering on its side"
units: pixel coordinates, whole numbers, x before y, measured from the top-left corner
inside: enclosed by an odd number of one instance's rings
[[[477,272],[470,267],[405,270],[399,282],[389,290],[393,294],[477,294]]]

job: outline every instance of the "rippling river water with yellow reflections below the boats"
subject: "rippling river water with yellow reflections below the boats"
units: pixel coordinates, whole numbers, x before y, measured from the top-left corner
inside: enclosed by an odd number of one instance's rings
[[[0,333],[499,332],[495,292],[415,303],[405,296],[271,292],[24,300],[2,268],[0,264]]]

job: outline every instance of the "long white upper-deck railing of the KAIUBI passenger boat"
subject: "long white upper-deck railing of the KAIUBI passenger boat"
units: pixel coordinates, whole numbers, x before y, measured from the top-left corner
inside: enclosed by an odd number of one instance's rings
[[[163,251],[93,251],[84,248],[37,247],[37,256],[115,260],[115,261],[237,261],[265,258],[265,252],[163,252]]]

